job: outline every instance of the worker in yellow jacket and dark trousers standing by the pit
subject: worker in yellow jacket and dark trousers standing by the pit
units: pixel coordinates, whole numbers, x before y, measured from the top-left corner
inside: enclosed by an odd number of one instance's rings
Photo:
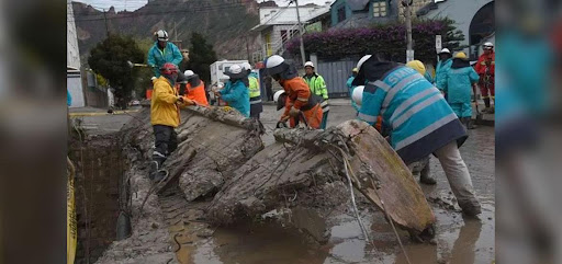
[[[162,164],[178,147],[178,137],[173,128],[180,124],[180,106],[193,102],[178,94],[175,89],[178,67],[167,62],[160,68],[160,77],[153,80],[154,90],[150,100],[150,124],[155,137],[155,149],[148,177],[155,182],[162,181],[168,173]]]

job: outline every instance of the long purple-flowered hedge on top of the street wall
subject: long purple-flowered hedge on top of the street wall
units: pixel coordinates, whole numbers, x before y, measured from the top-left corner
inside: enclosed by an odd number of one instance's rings
[[[442,35],[443,47],[451,50],[462,49],[459,42],[464,39],[461,31],[449,19],[414,21],[415,57],[435,65],[435,35]],[[406,28],[402,23],[375,24],[362,28],[341,28],[304,35],[304,48],[307,54],[315,53],[323,58],[360,58],[366,54],[384,53],[393,60],[406,60]],[[290,54],[299,53],[299,38],[292,38],[286,45]]]

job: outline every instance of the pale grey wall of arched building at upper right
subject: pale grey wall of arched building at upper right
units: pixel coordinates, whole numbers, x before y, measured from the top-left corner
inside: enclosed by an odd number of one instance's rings
[[[458,30],[464,34],[464,41],[461,45],[469,45],[470,22],[476,12],[486,3],[493,0],[447,0],[438,3],[438,9],[429,11],[424,18],[449,18],[454,20]],[[465,48],[464,53],[469,54]]]

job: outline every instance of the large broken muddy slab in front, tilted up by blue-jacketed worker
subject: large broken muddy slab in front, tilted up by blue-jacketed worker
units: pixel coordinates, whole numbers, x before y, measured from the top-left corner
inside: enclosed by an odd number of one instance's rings
[[[435,222],[408,168],[368,124],[349,120],[327,131],[278,129],[276,141],[234,172],[213,199],[209,219],[228,225],[295,205],[307,190],[347,179],[348,160],[356,188],[400,227],[419,233]]]

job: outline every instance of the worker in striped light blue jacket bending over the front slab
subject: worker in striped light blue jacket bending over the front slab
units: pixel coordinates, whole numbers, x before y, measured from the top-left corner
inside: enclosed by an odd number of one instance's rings
[[[441,163],[459,206],[481,214],[469,169],[459,147],[467,130],[447,101],[416,70],[389,61],[383,54],[363,56],[353,85],[364,85],[358,117],[374,124],[382,115],[390,142],[406,164],[434,153]]]

